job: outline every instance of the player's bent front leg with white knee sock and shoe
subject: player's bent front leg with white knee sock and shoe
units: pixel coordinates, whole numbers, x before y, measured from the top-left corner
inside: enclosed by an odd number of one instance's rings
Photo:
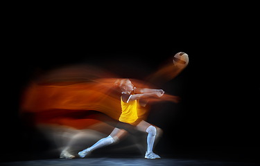
[[[153,153],[153,145],[155,143],[155,136],[157,133],[156,128],[149,124],[148,122],[142,120],[138,125],[137,129],[139,131],[146,131],[148,133],[147,136],[147,151],[146,151],[146,156],[145,158],[150,158],[150,159],[156,159],[156,158],[161,158],[157,154]]]

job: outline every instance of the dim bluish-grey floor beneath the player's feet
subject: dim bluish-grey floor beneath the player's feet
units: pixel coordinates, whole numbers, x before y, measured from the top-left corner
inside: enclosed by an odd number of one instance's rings
[[[207,159],[189,159],[189,158],[162,158],[157,160],[149,160],[142,158],[141,156],[130,157],[95,157],[95,158],[74,158],[74,159],[41,159],[41,160],[23,160],[23,161],[10,161],[5,163],[0,163],[0,165],[30,165],[30,166],[40,166],[40,165],[178,165],[178,166],[254,166],[259,163],[252,163],[248,161],[230,161],[230,160],[207,160]]]

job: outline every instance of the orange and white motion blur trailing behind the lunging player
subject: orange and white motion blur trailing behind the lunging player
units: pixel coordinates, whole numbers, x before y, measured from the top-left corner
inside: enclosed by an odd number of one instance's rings
[[[150,78],[158,77],[158,72]],[[122,91],[115,84],[118,80],[121,78],[117,75],[89,65],[67,66],[37,75],[21,95],[21,118],[55,142],[55,148],[61,151],[60,158],[73,158],[75,156],[71,154],[104,138],[118,124],[122,113]],[[155,88],[141,80],[131,79],[131,83],[139,89]],[[164,94],[161,98],[147,96],[138,99],[136,121],[146,120],[148,102],[163,100],[178,102],[179,98]],[[159,138],[162,130],[156,129],[156,138]],[[149,132],[153,133],[153,129]],[[119,133],[118,137],[125,133]]]

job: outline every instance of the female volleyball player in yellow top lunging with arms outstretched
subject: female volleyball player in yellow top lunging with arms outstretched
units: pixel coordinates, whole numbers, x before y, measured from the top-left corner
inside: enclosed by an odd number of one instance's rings
[[[149,124],[148,122],[141,120],[139,122],[137,116],[137,100],[140,98],[146,98],[153,95],[161,97],[164,95],[162,89],[136,89],[132,82],[128,79],[123,79],[121,82],[117,82],[119,88],[122,91],[121,95],[121,109],[122,113],[119,117],[119,122],[110,133],[110,136],[98,140],[92,147],[84,149],[83,151],[78,152],[78,155],[81,158],[87,156],[95,149],[104,147],[105,145],[111,145],[113,142],[117,142],[120,136],[128,131],[128,133],[135,134],[139,131],[148,133],[147,136],[147,151],[145,158],[156,159],[160,158],[157,154],[153,153],[153,144],[155,142],[156,128]],[[139,91],[139,94],[135,94],[136,91]]]

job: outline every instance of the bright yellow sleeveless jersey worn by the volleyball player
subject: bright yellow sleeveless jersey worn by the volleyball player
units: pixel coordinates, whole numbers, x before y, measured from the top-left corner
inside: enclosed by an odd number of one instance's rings
[[[123,95],[121,96],[122,113],[121,113],[121,116],[119,117],[119,121],[133,124],[138,119],[137,100],[129,101],[131,95],[127,95],[127,96],[129,96],[129,97],[127,98],[126,102],[123,102],[123,99],[122,99]]]

